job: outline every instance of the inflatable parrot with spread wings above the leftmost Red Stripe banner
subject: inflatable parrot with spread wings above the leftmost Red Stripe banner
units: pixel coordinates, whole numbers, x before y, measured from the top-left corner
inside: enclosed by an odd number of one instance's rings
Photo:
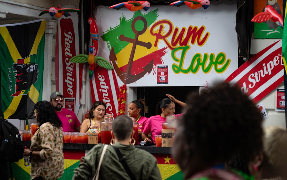
[[[46,13],[49,13],[52,17],[53,16],[61,17],[62,15],[64,15],[65,17],[68,17],[71,15],[69,12],[74,13],[74,12],[78,12],[78,11],[81,11],[81,10],[80,9],[61,8],[61,5],[58,5],[58,7],[50,7],[50,9],[46,9],[46,10],[42,11],[39,14],[39,16],[46,14]]]

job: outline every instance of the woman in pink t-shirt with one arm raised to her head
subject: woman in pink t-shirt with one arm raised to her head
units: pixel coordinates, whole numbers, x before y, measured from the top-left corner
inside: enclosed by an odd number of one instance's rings
[[[141,134],[141,137],[144,141],[147,141],[149,144],[154,144],[155,135],[160,135],[162,130],[162,123],[166,121],[166,116],[176,116],[179,118],[181,114],[174,114],[175,113],[175,104],[177,103],[181,106],[185,106],[186,103],[179,101],[175,99],[172,95],[167,94],[166,95],[169,98],[162,99],[157,105],[156,105],[156,116],[151,116],[148,118],[148,121],[146,122],[146,125],[144,127],[144,131]],[[148,134],[152,133],[152,140],[148,138]]]

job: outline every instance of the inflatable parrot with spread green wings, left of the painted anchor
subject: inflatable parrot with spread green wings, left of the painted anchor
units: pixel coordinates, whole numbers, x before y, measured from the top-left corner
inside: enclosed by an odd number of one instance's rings
[[[95,55],[96,55],[96,48],[95,48],[95,46],[91,46],[89,48],[89,55],[79,54],[79,55],[76,55],[76,56],[73,56],[72,58],[70,58],[70,61],[75,62],[75,63],[88,62],[90,64],[90,70],[89,70],[90,80],[92,79],[92,77],[94,75],[95,64],[98,64],[99,66],[101,66],[105,69],[114,69],[112,64],[110,64],[110,62],[108,62],[108,60],[106,60],[103,57],[95,56]]]

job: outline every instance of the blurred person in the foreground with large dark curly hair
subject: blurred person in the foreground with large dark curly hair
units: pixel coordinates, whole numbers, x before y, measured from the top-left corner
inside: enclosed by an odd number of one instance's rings
[[[185,179],[244,179],[225,163],[239,150],[253,160],[263,147],[261,123],[255,104],[235,85],[189,95],[173,149]]]

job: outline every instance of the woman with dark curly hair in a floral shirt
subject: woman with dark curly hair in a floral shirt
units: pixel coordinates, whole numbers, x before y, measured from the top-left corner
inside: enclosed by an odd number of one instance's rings
[[[38,129],[31,139],[31,179],[58,179],[64,173],[63,128],[53,106],[48,101],[35,104]]]

